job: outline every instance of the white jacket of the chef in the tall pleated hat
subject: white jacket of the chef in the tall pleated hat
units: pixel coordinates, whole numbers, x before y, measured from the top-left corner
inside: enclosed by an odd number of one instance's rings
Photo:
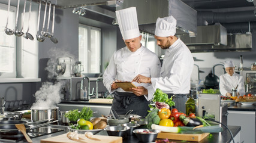
[[[135,52],[129,51],[127,46],[116,51],[107,69],[103,74],[103,83],[110,93],[114,91],[126,92],[121,88],[111,90],[111,84],[115,80],[131,82],[135,76],[141,74],[146,77],[159,77],[161,63],[158,56],[144,46]],[[149,83],[133,82],[135,86],[149,86]]]

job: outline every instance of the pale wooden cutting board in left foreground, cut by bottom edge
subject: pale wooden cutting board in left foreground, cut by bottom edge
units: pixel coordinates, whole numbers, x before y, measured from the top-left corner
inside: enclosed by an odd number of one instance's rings
[[[40,143],[74,143],[74,142],[80,142],[80,143],[119,143],[123,142],[122,137],[120,136],[103,136],[103,135],[94,135],[91,139],[87,138],[84,134],[79,134],[79,140],[75,141],[72,139],[69,139],[67,137],[67,133],[54,136],[52,138],[47,139],[41,139]]]

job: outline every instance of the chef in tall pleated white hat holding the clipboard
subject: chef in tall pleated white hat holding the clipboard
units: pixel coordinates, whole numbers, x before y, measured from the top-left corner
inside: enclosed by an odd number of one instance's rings
[[[137,96],[124,91],[115,84],[115,81],[131,82],[137,74],[159,77],[161,63],[155,53],[140,43],[141,35],[135,7],[116,11],[116,20],[126,46],[113,54],[109,66],[104,71],[103,83],[110,93],[115,92],[112,109],[118,114],[133,110],[132,114],[145,117],[149,110],[149,101],[143,95]],[[133,83],[143,88],[149,86],[149,83]]]

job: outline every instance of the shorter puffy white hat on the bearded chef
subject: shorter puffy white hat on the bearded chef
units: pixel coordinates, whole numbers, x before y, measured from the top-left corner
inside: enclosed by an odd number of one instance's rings
[[[177,20],[173,16],[157,18],[155,35],[159,37],[174,36],[176,33]]]

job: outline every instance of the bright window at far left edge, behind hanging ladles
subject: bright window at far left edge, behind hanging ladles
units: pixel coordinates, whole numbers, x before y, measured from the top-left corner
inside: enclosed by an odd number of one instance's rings
[[[16,37],[4,32],[7,22],[8,5],[0,4],[0,15],[6,15],[0,21],[0,78],[16,77]],[[8,28],[13,29],[15,25],[16,7],[10,7],[8,13]]]

